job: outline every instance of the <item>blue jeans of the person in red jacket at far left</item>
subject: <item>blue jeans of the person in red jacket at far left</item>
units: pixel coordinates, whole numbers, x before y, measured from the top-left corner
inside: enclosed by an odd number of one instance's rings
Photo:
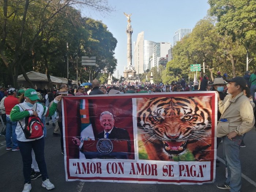
[[[17,121],[11,121],[10,117],[6,117],[6,147],[12,147],[12,149],[16,149],[18,147],[17,135],[15,133],[16,127]]]

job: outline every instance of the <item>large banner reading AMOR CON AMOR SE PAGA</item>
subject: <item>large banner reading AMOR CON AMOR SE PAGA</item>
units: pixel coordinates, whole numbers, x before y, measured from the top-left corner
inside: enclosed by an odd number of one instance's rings
[[[215,180],[214,91],[65,96],[67,181]]]

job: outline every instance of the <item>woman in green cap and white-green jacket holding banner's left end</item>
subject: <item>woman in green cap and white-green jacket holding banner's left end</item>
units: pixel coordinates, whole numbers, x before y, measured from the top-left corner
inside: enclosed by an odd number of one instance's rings
[[[54,99],[53,105],[50,108],[43,106],[39,103],[36,103],[39,100],[39,98],[37,96],[37,92],[34,89],[27,89],[24,93],[24,98],[25,100],[22,103],[15,105],[10,113],[11,121],[19,121],[15,129],[15,132],[17,135],[20,153],[22,155],[23,176],[25,178],[25,185],[22,192],[30,192],[31,190],[30,174],[32,163],[32,148],[35,152],[35,158],[37,159],[38,167],[42,174],[42,187],[45,187],[46,189],[50,190],[55,187],[49,181],[46,169],[46,163],[44,158],[44,135],[36,139],[26,139],[22,129],[25,128],[26,117],[34,115],[36,117],[42,118],[42,116],[47,117],[53,115],[56,110],[57,103],[59,103],[62,96],[57,96]]]

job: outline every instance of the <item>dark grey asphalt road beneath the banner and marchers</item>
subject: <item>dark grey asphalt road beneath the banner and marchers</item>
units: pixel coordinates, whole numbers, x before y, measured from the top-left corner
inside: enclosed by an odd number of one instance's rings
[[[60,137],[52,135],[52,125],[47,126],[45,140],[45,159],[48,167],[50,181],[55,185],[55,192],[221,192],[217,184],[225,182],[225,165],[221,162],[216,167],[216,180],[214,183],[203,185],[168,185],[168,184],[131,184],[109,182],[80,182],[65,181],[64,155],[60,150]],[[0,127],[1,130],[1,127]],[[256,192],[256,132],[251,130],[245,136],[246,148],[241,148],[242,164],[242,192]],[[21,192],[23,190],[22,158],[19,151],[6,151],[5,138],[0,136],[0,192]],[[222,144],[217,156],[222,160]],[[42,180],[31,181],[31,192],[46,192],[41,187]],[[227,191],[227,190],[226,190]]]

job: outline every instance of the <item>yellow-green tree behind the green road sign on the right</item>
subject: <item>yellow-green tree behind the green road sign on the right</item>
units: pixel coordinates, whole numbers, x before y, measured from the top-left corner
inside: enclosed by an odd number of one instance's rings
[[[245,49],[238,42],[233,42],[229,35],[218,33],[212,18],[202,19],[197,22],[191,34],[173,47],[173,60],[167,63],[162,76],[163,82],[170,83],[182,76],[190,76],[192,79],[194,72],[190,72],[190,64],[203,65],[203,62],[212,81],[217,71],[232,76],[241,75],[240,71],[245,69],[244,51]]]

